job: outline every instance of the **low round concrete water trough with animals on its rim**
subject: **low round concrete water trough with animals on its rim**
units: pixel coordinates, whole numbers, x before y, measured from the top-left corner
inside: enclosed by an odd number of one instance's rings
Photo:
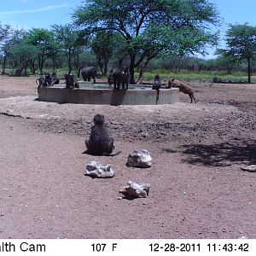
[[[108,84],[79,82],[79,88],[65,84],[38,87],[38,100],[44,102],[98,105],[158,105],[178,102],[178,89],[152,90],[150,84],[130,85],[128,90],[113,90]]]

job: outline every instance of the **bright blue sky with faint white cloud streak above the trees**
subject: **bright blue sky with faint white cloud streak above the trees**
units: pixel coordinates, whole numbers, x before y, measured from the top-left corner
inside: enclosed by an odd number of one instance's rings
[[[219,15],[224,19],[223,25],[216,28],[222,37],[229,23],[247,22],[256,26],[256,0],[208,1],[216,4]],[[82,2],[84,0],[0,0],[0,21],[25,29],[49,28],[53,24],[72,22],[71,14]],[[224,46],[223,41],[220,45]],[[213,55],[213,49],[209,49],[209,54],[208,57]]]

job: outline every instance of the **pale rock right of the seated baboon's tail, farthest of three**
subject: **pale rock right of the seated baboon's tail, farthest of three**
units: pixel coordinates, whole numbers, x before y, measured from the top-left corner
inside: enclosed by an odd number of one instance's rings
[[[126,166],[148,168],[152,166],[152,158],[146,149],[134,150],[129,154]]]

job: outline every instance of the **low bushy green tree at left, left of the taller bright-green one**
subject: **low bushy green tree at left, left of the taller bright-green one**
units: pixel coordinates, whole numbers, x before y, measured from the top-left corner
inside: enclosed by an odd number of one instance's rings
[[[26,43],[16,43],[10,46],[9,52],[13,60],[13,66],[16,67],[16,75],[26,75],[26,68],[31,60],[37,58],[38,51],[37,46]]]

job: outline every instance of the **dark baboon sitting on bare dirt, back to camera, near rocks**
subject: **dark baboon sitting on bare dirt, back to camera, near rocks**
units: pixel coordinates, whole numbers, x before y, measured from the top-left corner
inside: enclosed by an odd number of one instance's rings
[[[91,127],[90,138],[85,140],[85,146],[88,154],[94,155],[109,155],[113,152],[113,137],[108,134],[108,129],[105,124],[105,118],[102,114],[97,113],[93,119],[94,125]]]

